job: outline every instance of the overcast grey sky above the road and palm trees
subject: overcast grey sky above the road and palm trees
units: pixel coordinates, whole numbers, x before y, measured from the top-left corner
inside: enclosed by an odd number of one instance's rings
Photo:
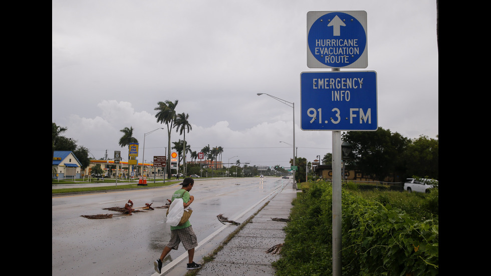
[[[144,134],[166,128],[154,108],[178,100],[193,151],[209,144],[224,148],[223,162],[289,166],[293,109],[257,96],[268,93],[295,103],[298,156],[322,158],[332,132],[300,129],[300,74],[330,71],[307,67],[309,11],[366,11],[368,67],[341,71],[377,72],[379,127],[438,135],[434,0],[54,0],[52,121],[97,159],[126,152],[119,130],[132,126],[141,162]],[[165,147],[166,129],[145,136],[146,162]]]

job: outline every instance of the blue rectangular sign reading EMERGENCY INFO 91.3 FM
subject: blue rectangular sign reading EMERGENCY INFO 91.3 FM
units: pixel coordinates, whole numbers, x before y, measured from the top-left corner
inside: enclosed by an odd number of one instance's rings
[[[300,121],[302,130],[377,130],[377,74],[303,72]]]

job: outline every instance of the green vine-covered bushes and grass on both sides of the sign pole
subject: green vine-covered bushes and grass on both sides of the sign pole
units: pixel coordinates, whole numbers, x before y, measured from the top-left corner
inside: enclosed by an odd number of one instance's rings
[[[348,189],[342,193],[343,275],[438,274],[437,212],[432,214],[428,209],[413,216],[394,206],[392,201],[400,201],[401,192],[381,192],[367,198],[361,193]],[[437,191],[423,194],[427,198],[419,209],[434,207],[435,194],[437,210]],[[421,217],[421,213],[428,217]],[[290,218],[282,258],[275,263],[277,274],[332,274],[331,185],[311,183],[294,200]]]

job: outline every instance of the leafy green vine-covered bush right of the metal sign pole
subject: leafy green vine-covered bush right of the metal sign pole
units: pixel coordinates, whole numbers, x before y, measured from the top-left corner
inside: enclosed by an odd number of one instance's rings
[[[364,275],[438,274],[438,221],[359,198],[343,211],[343,260]],[[355,261],[353,261],[355,260]]]

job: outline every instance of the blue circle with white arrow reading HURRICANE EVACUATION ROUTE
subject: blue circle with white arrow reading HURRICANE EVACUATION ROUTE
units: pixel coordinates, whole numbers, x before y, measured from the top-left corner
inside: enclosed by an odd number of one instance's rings
[[[341,68],[362,56],[367,36],[356,18],[334,12],[319,17],[312,24],[307,41],[316,60],[328,67]]]

